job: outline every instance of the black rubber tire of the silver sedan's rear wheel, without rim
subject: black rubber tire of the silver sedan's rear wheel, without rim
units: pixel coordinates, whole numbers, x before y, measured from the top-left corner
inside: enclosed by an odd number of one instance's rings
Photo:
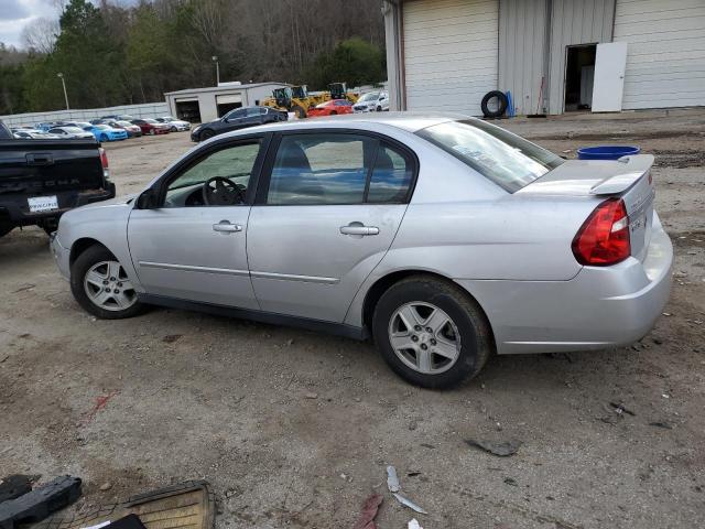
[[[412,302],[432,303],[457,327],[460,350],[455,364],[443,373],[423,374],[409,367],[390,343],[389,327],[394,312]],[[412,276],[382,294],[372,316],[372,335],[382,358],[397,375],[431,389],[451,388],[475,377],[494,349],[490,326],[479,305],[458,285],[431,276]]]

